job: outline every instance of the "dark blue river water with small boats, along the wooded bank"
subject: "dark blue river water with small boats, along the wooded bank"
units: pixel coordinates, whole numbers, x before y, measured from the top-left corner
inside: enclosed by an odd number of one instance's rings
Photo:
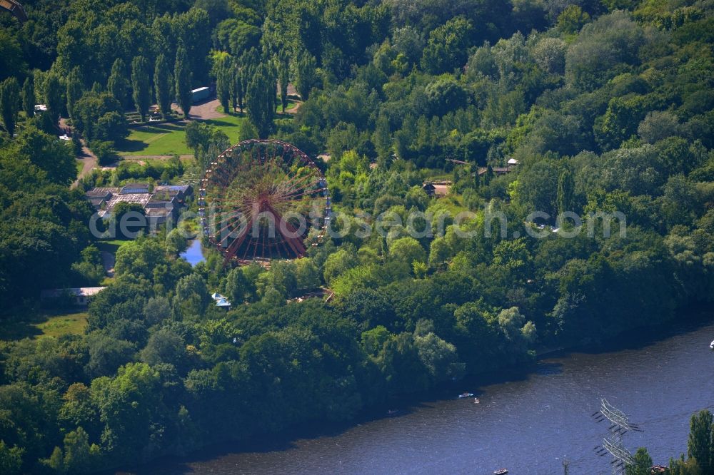
[[[711,320],[709,320],[711,322]],[[662,337],[662,335],[659,335]],[[449,389],[404,404],[396,417],[323,429],[291,441],[229,446],[163,460],[152,474],[610,474],[593,450],[608,423],[591,414],[605,397],[642,432],[625,434],[631,451],[647,446],[655,463],[686,451],[689,418],[714,407],[712,324],[684,324],[659,341],[617,350],[546,357],[509,381]],[[480,399],[457,399],[461,391]],[[305,432],[303,432],[305,434]]]

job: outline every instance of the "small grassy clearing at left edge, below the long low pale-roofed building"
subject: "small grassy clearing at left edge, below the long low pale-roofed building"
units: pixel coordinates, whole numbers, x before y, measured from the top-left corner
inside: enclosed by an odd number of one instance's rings
[[[0,339],[56,338],[64,334],[81,334],[87,323],[86,312],[57,310],[31,315],[24,320],[0,322]]]

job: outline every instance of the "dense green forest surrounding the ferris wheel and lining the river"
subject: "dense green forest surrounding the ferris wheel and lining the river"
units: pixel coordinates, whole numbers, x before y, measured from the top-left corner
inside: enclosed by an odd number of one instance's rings
[[[2,473],[345,421],[714,302],[714,1],[22,3],[29,21],[0,16],[3,320],[35,312],[42,289],[104,280],[85,187],[178,180],[240,138],[329,153],[346,218],[341,237],[269,270],[218,252],[191,267],[174,232],[121,245],[84,334],[0,342]],[[70,188],[79,144],[57,140],[60,117],[111,155],[127,113],[167,116],[176,98],[187,115],[186,94],[211,81],[245,112],[239,136],[192,122],[191,163],[122,164]],[[275,113],[288,82],[289,118]],[[433,178],[451,193],[427,195]],[[466,211],[468,238],[453,225]],[[548,215],[540,239],[533,212]],[[593,235],[566,238],[565,212]],[[595,213],[615,212],[626,233],[605,237],[620,223]],[[376,216],[402,224],[362,237]],[[320,286],[330,302],[294,300]]]

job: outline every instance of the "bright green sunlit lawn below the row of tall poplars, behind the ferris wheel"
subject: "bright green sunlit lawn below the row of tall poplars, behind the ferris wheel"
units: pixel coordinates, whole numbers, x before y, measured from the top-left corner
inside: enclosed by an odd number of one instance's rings
[[[238,142],[238,126],[243,118],[226,116],[203,121],[221,129],[231,143]],[[119,155],[188,155],[193,153],[186,146],[183,123],[162,123],[156,126],[132,128],[129,137],[117,144]]]

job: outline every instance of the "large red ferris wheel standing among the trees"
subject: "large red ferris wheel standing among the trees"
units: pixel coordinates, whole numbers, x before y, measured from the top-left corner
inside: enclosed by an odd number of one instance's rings
[[[198,207],[211,245],[247,263],[306,255],[325,235],[331,198],[321,170],[294,145],[248,140],[208,165]]]

